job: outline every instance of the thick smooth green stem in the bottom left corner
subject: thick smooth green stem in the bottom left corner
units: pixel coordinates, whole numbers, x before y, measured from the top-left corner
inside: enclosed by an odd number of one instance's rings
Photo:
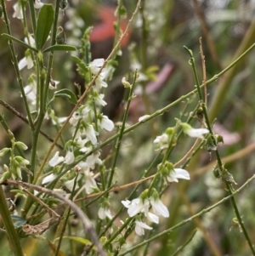
[[[5,199],[2,185],[0,185],[0,204],[1,204],[0,214],[3,219],[3,225],[7,232],[8,244],[12,252],[14,253],[14,256],[24,256],[22,252],[22,248],[20,246],[20,237],[18,236],[14,228],[13,220],[10,217],[10,213],[8,210],[8,205]]]

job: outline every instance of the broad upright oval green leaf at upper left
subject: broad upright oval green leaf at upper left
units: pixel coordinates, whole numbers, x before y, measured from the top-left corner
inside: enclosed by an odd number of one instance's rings
[[[36,42],[37,50],[41,50],[46,42],[54,21],[54,8],[52,4],[43,4],[37,19]]]

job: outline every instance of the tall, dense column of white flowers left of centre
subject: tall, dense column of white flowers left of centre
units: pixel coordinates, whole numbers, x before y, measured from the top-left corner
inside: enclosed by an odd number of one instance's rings
[[[90,63],[89,69],[92,75],[96,75],[101,66],[104,64],[104,59],[94,60]],[[98,186],[94,180],[95,165],[102,164],[100,160],[100,152],[92,152],[95,145],[99,143],[99,132],[103,129],[111,131],[114,128],[114,123],[105,115],[100,113],[97,106],[105,106],[105,95],[100,94],[101,87],[107,87],[107,83],[104,81],[105,69],[102,71],[96,79],[96,86],[93,89],[92,94],[89,95],[85,105],[81,105],[70,119],[70,124],[74,130],[73,139],[65,143],[65,156],[59,156],[59,151],[55,152],[53,158],[48,162],[49,166],[57,169],[59,164],[71,165],[75,162],[76,157],[84,154],[90,154],[85,161],[80,161],[75,166],[78,169],[79,174],[77,180],[82,179],[84,181],[83,188],[87,194],[98,191]],[[80,152],[80,153],[77,153]],[[65,177],[65,186],[71,191],[75,177],[71,174],[66,174],[69,178]],[[46,176],[42,183],[47,183],[57,176],[56,174],[50,174]],[[106,209],[106,210],[105,210]],[[109,209],[104,206],[99,210],[100,218],[104,219],[105,216],[109,217]]]

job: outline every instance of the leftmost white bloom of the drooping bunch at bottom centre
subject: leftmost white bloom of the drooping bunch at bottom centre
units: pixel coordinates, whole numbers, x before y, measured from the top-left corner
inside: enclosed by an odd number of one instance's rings
[[[148,199],[145,199],[144,201],[142,198],[135,198],[131,202],[126,200],[122,201],[122,204],[127,209],[127,213],[130,217],[135,216],[138,213],[148,213],[150,208],[150,202]]]

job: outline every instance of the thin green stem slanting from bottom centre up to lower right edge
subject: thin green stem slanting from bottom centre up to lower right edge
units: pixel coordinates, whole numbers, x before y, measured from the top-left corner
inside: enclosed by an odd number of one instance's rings
[[[196,213],[195,215],[193,215],[192,217],[188,218],[188,219],[184,219],[183,221],[179,222],[177,225],[173,225],[173,227],[162,231],[161,233],[157,234],[156,236],[152,236],[149,239],[144,240],[144,242],[140,242],[139,244],[137,244],[136,246],[127,249],[125,252],[120,253],[119,256],[124,256],[127,255],[127,253],[131,253],[133,252],[135,249],[138,249],[139,247],[142,247],[144,245],[146,245],[148,242],[152,242],[154,240],[156,240],[157,238],[161,237],[161,236],[165,236],[167,234],[169,234],[170,232],[172,232],[173,230],[176,230],[178,227],[187,224],[188,222],[190,222],[191,220],[200,217],[201,215],[203,215],[204,213],[208,213],[210,211],[212,211],[213,208],[218,207],[220,204],[226,202],[227,200],[229,200],[230,198],[232,198],[233,196],[235,196],[237,193],[239,193],[243,188],[246,187],[246,185],[248,185],[252,179],[255,178],[255,175],[252,176],[252,178],[247,179],[246,183],[244,185],[242,185],[238,190],[234,191],[231,195],[224,197],[222,200],[220,200],[219,202],[213,204],[211,207],[209,208],[205,208],[203,210],[201,210],[199,213]]]

